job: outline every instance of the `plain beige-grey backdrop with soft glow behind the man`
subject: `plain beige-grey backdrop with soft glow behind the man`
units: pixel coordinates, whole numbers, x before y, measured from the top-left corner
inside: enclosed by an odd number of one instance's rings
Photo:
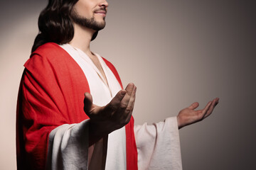
[[[220,97],[180,130],[183,169],[256,169],[255,2],[109,0],[92,50],[137,85],[134,118],[153,123]],[[18,84],[46,1],[0,2],[0,169],[16,169]]]

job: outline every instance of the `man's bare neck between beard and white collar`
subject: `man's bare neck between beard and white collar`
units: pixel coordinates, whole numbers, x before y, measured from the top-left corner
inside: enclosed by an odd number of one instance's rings
[[[92,52],[90,51],[90,42],[94,33],[95,30],[85,28],[77,23],[74,23],[74,37],[69,44],[73,47],[78,47],[80,50],[85,52],[85,54],[91,55]]]

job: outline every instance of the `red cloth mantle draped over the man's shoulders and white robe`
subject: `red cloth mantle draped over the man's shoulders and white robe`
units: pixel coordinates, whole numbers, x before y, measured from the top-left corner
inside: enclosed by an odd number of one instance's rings
[[[117,70],[105,62],[122,86]],[[45,169],[48,135],[60,125],[88,119],[83,111],[83,99],[90,88],[75,60],[53,42],[38,47],[24,66],[16,118],[17,166],[18,169]],[[125,130],[127,169],[134,170],[137,147],[133,118]]]

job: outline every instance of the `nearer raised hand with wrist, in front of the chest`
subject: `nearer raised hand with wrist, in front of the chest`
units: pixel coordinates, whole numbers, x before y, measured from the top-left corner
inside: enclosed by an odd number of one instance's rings
[[[120,90],[106,106],[96,106],[92,96],[85,93],[84,111],[90,118],[90,145],[110,132],[129,123],[134,108],[137,87],[130,83]]]

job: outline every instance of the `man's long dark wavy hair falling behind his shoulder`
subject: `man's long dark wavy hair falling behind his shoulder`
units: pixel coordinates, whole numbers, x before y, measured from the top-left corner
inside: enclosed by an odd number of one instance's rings
[[[38,18],[39,33],[33,43],[32,52],[46,42],[65,44],[74,36],[74,27],[70,13],[78,0],[49,0]],[[97,32],[92,35],[92,40]]]

